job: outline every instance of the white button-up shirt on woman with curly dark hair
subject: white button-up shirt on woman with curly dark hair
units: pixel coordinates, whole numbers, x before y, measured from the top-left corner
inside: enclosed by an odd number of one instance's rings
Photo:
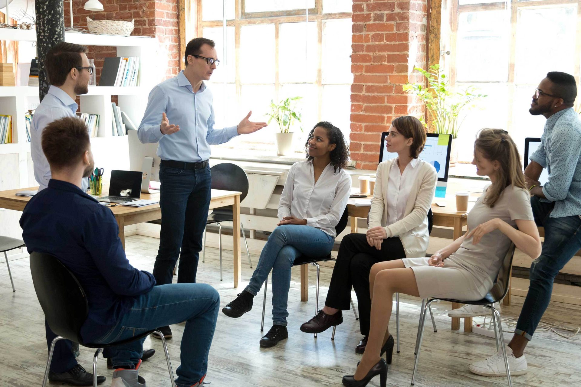
[[[312,161],[295,162],[290,167],[278,204],[278,219],[291,215],[307,219],[307,226],[336,237],[335,226],[349,201],[351,176],[328,164],[317,183],[314,181]]]

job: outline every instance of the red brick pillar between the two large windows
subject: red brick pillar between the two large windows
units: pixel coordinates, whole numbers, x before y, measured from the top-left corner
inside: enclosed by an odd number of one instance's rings
[[[381,132],[399,115],[424,114],[407,82],[426,65],[427,0],[353,0],[350,150],[357,168],[376,169]]]

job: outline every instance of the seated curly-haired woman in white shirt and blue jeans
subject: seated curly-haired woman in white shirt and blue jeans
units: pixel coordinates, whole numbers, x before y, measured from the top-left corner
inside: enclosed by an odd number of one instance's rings
[[[240,317],[252,309],[254,296],[272,270],[272,321],[261,346],[288,338],[286,304],[295,258],[325,256],[335,243],[335,226],[345,211],[351,178],[343,170],[349,150],[343,134],[330,122],[319,122],[305,144],[307,160],[290,167],[278,205],[278,227],[268,237],[250,283],[222,312]]]

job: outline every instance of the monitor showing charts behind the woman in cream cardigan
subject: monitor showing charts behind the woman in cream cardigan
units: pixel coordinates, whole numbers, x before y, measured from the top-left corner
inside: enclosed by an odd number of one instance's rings
[[[389,132],[381,133],[381,150],[379,151],[379,162],[397,157],[397,153],[388,152],[386,149],[386,137]],[[427,161],[436,168],[437,180],[439,182],[448,181],[448,168],[450,166],[450,149],[452,146],[452,135],[439,135],[428,133],[424,150],[419,154],[421,160]]]

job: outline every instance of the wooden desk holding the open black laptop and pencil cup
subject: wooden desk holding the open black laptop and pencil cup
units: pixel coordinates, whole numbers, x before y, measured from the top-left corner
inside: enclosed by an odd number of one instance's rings
[[[36,190],[38,187],[19,188],[16,190],[0,191],[0,208],[15,209],[16,211],[23,211],[24,207],[30,200],[30,197],[16,196],[17,191]],[[103,187],[103,192],[108,191]],[[237,288],[242,280],[241,277],[241,263],[240,263],[240,195],[238,191],[223,191],[211,190],[210,209],[223,207],[225,205],[232,205],[234,209],[234,287]],[[156,194],[141,194],[142,199],[159,200],[159,193]],[[119,225],[119,238],[123,248],[125,248],[125,232],[124,227],[135,225],[137,223],[149,222],[150,220],[158,220],[162,218],[162,210],[159,208],[159,203],[146,205],[144,207],[127,207],[125,205],[117,205],[116,207],[108,207],[113,212],[117,225]]]

